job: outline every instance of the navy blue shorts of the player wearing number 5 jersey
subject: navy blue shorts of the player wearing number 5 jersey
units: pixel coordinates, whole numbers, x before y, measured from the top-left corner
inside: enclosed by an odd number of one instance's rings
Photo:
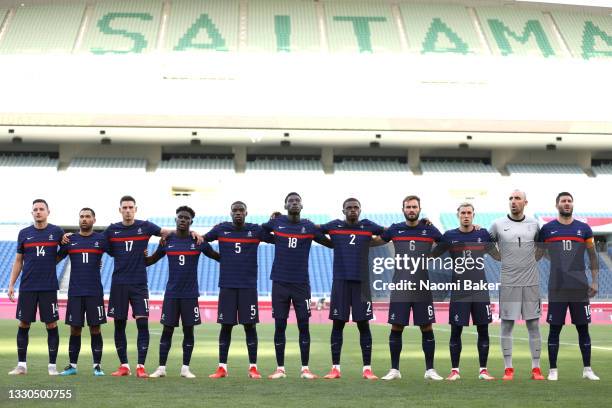
[[[217,307],[217,323],[259,323],[257,288],[221,288]]]

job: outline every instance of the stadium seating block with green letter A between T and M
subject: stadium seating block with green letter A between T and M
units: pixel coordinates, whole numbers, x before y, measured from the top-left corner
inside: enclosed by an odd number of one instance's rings
[[[467,7],[458,4],[400,3],[410,51],[419,54],[484,54]]]

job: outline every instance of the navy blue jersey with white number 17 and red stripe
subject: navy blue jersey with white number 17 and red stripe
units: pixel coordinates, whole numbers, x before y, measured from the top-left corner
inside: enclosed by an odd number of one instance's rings
[[[161,228],[149,221],[136,220],[130,226],[121,222],[109,225],[104,235],[109,241],[109,254],[115,258],[113,284],[147,284],[144,251],[151,235],[160,233]]]

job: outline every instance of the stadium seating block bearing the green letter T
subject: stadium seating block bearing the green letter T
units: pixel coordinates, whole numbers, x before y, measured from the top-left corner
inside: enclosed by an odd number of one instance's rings
[[[326,1],[327,37],[332,52],[400,52],[389,3]]]

